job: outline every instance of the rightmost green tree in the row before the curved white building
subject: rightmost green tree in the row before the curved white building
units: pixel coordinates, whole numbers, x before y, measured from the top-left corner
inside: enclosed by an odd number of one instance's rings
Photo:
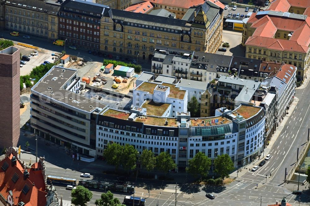
[[[215,172],[219,174],[224,181],[224,178],[229,177],[229,173],[234,169],[232,159],[228,154],[222,154],[214,160]]]

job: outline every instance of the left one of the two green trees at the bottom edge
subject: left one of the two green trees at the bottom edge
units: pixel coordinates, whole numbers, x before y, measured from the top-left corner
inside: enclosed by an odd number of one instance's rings
[[[71,191],[71,203],[76,206],[86,206],[86,203],[91,200],[93,193],[87,188],[79,185],[76,189]]]

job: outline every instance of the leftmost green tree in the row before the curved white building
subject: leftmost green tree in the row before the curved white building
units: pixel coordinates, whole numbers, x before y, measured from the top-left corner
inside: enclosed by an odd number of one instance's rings
[[[122,152],[123,147],[120,144],[109,143],[107,148],[105,148],[103,151],[103,156],[105,157],[108,164],[114,165],[115,170],[117,170],[119,165],[121,165]]]

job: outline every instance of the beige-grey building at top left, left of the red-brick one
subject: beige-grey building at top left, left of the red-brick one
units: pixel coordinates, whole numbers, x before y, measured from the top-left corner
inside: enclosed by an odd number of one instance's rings
[[[51,1],[19,0],[5,2],[5,29],[40,36],[58,38],[60,4]]]

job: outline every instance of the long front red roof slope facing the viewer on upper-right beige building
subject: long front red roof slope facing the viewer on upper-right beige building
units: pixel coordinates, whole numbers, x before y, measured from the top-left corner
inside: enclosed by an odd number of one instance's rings
[[[307,52],[309,49],[309,47],[298,45],[296,41],[274,39],[263,36],[250,36],[246,41],[246,45],[253,45],[282,51],[297,51],[302,53]]]

